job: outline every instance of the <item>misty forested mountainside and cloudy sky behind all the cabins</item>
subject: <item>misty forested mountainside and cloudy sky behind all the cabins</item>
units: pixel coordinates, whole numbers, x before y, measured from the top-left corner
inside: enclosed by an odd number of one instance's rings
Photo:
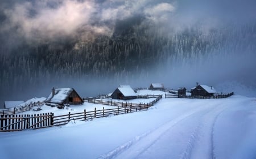
[[[256,95],[252,0],[0,3],[0,102],[152,82]]]

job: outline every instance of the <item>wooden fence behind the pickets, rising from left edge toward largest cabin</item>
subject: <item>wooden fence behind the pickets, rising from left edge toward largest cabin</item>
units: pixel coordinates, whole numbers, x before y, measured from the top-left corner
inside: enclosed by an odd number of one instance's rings
[[[24,106],[19,106],[19,107],[14,107],[13,110],[7,109],[7,110],[0,110],[0,115],[11,115],[11,114],[16,114],[16,113],[21,113],[23,111],[27,111],[27,110],[31,110],[32,107],[34,106],[40,106],[40,105],[44,105],[44,101],[38,101],[38,102],[34,102],[28,105],[24,105]]]

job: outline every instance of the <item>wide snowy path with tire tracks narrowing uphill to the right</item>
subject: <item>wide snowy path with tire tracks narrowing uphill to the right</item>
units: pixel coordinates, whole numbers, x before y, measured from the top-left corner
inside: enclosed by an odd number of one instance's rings
[[[102,154],[99,158],[216,158],[213,150],[213,127],[218,115],[225,109],[226,106],[219,101],[218,104],[214,102],[212,105],[189,110],[162,126],[119,145],[113,151]],[[180,130],[187,132],[183,135],[186,142],[177,144],[174,136],[179,134]],[[172,141],[172,138],[174,143],[166,143],[166,139]],[[175,153],[176,156],[171,156],[172,149],[168,151],[168,145],[174,148],[174,144],[177,144],[175,151],[180,152]]]

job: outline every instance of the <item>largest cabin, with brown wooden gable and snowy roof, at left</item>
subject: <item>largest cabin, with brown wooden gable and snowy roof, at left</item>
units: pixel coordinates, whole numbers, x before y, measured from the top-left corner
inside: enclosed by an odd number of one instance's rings
[[[53,88],[45,102],[48,105],[79,105],[84,101],[73,88]]]

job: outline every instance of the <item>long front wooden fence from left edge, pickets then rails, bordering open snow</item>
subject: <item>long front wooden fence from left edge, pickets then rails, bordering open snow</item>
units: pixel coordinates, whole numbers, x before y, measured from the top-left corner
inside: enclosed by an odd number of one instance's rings
[[[88,121],[94,118],[104,118],[109,117],[110,115],[119,115],[125,113],[133,113],[137,111],[146,111],[148,108],[153,106],[156,102],[158,102],[162,98],[162,96],[158,96],[156,100],[148,103],[148,104],[124,104],[118,102],[114,103],[113,106],[117,106],[117,108],[113,109],[101,109],[96,110],[94,108],[93,111],[86,111],[81,113],[71,113],[65,115],[57,115],[54,116],[53,113],[43,113],[43,114],[35,114],[35,115],[0,115],[0,132],[1,131],[20,131],[24,129],[37,129],[51,126],[60,126],[67,124],[72,120],[82,120]],[[95,100],[95,103],[97,103]],[[102,104],[106,104],[108,101],[100,101]],[[40,102],[39,102],[40,103]],[[109,102],[110,104],[110,102]]]

